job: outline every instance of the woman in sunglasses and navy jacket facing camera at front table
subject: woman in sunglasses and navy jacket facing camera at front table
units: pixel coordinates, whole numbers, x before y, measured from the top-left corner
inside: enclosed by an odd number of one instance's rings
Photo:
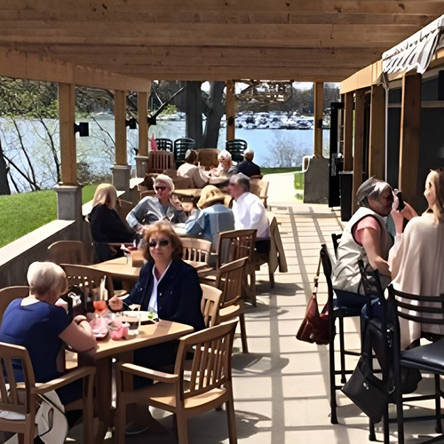
[[[167,221],[147,226],[144,256],[147,264],[141,269],[139,281],[131,290],[125,303],[139,304],[141,310],[157,313],[159,319],[178,321],[191,325],[194,330],[204,328],[201,312],[202,289],[196,270],[181,260],[182,242]],[[114,311],[122,310],[118,297],[109,300]],[[134,353],[134,363],[150,369],[164,369],[175,359],[178,342],[154,345]],[[135,379],[135,385],[147,384],[147,379]],[[131,416],[127,434],[143,432],[147,426],[155,426],[147,410],[139,408]]]

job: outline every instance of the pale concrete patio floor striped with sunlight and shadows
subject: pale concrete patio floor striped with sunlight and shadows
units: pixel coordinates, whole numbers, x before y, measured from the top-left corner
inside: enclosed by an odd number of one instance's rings
[[[321,243],[327,243],[332,250],[331,234],[342,230],[340,217],[327,205],[297,203],[293,196],[292,174],[268,178],[269,207],[281,224],[289,273],[276,273],[275,286],[271,289],[267,267],[261,268],[257,275],[258,306],[249,306],[246,313],[250,353],[242,353],[239,335],[234,340],[234,407],[238,442],[368,442],[367,416],[340,392],[337,394],[340,424],[330,424],[328,347],[302,343],[295,337],[311,294]],[[321,302],[325,301],[327,286],[322,275],[318,294]],[[358,322],[346,321],[346,344],[359,350]],[[153,412],[172,431],[172,416],[156,409]],[[228,442],[225,410],[196,416],[188,426],[190,444]],[[82,442],[81,429],[81,425],[75,427],[67,442]],[[406,424],[406,442],[423,442],[424,434],[433,431],[431,422]],[[380,424],[377,440],[383,440]],[[107,438],[106,442],[113,440]],[[173,432],[167,435],[145,432],[127,439],[128,444],[176,442]],[[397,442],[394,424],[391,426],[391,442]]]

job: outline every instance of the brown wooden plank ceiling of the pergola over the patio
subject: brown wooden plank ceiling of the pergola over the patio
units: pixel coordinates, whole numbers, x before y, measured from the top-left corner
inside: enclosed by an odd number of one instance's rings
[[[444,13],[428,0],[2,0],[0,75],[340,82]]]

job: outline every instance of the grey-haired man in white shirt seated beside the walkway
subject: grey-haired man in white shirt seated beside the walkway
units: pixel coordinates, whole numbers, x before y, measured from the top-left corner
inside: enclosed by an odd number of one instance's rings
[[[264,204],[256,194],[250,193],[250,178],[242,174],[234,174],[228,183],[230,195],[234,198],[233,214],[236,230],[256,228],[256,250],[258,253],[268,252],[270,228],[266,218]]]

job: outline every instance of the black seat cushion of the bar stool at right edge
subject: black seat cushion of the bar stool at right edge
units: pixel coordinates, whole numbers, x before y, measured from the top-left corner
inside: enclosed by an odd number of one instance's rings
[[[416,369],[430,369],[444,374],[444,338],[439,341],[421,345],[400,353],[400,362],[403,364],[416,364]]]

